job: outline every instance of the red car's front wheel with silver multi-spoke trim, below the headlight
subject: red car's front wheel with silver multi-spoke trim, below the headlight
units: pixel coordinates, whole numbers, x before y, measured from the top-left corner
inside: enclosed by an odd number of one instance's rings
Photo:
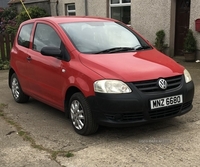
[[[80,135],[90,135],[98,129],[90,107],[82,93],[72,95],[69,102],[70,118],[74,130]]]

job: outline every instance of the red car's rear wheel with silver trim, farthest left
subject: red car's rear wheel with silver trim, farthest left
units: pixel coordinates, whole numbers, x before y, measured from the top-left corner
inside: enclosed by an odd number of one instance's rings
[[[17,75],[14,73],[11,76],[11,91],[13,98],[17,103],[26,103],[29,100],[29,96],[26,95],[20,86]]]

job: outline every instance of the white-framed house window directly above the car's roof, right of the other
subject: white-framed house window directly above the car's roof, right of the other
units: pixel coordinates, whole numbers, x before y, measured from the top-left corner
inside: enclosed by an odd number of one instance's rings
[[[110,17],[125,24],[131,21],[131,0],[109,0],[110,1]]]

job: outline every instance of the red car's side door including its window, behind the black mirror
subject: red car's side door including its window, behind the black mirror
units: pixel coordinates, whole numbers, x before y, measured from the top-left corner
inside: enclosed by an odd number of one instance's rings
[[[32,93],[34,97],[56,108],[63,107],[61,91],[64,79],[61,77],[62,60],[43,56],[40,51],[45,46],[60,48],[61,39],[55,29],[45,23],[37,23],[33,36],[33,47],[29,52],[30,66],[34,70]]]

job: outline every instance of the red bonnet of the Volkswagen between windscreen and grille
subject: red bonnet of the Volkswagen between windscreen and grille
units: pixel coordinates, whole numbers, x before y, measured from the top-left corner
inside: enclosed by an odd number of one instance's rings
[[[112,53],[80,54],[86,67],[105,79],[118,79],[125,82],[157,79],[183,74],[184,68],[156,49]]]

